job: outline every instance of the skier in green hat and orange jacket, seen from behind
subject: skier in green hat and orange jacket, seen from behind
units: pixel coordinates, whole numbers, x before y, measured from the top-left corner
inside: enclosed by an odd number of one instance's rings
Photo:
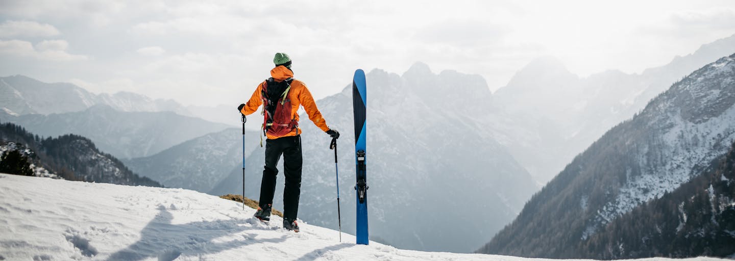
[[[286,184],[283,191],[283,227],[298,232],[296,216],[298,197],[301,194],[301,128],[298,128],[298,107],[303,106],[309,120],[337,139],[340,133],[329,128],[317,109],[306,84],[293,77],[291,59],[287,54],[278,53],[273,57],[276,67],[270,70],[271,78],[258,85],[248,103],[240,104],[237,111],[249,115],[263,104],[263,132],[265,141],[265,166],[260,183],[259,207],[255,217],[270,221],[273,194],[276,191],[276,174],[279,158],[283,154],[283,169]],[[262,145],[262,144],[261,144]]]

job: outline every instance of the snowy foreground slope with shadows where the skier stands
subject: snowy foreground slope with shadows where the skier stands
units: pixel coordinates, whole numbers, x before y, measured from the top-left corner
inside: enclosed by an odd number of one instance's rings
[[[262,224],[251,208],[183,189],[0,174],[0,198],[0,260],[526,260],[340,243],[337,231],[289,232],[278,217]]]

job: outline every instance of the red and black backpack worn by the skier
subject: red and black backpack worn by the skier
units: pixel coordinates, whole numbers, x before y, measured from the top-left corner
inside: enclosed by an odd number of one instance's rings
[[[263,135],[284,136],[294,128],[298,128],[298,121],[291,113],[291,100],[288,92],[291,89],[293,78],[276,81],[268,78],[263,82],[260,97],[263,100]]]

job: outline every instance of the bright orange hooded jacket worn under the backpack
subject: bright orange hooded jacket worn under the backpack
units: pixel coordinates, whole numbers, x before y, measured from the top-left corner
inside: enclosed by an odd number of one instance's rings
[[[292,78],[293,72],[284,66],[278,66],[273,68],[273,70],[270,70],[270,76],[272,76],[276,81],[283,81],[287,78]],[[258,84],[258,88],[253,92],[253,96],[248,100],[248,103],[245,103],[245,107],[240,110],[241,113],[250,115],[257,111],[258,107],[263,103],[261,98],[262,88],[263,83]],[[306,111],[306,114],[309,114],[309,120],[312,120],[312,122],[314,122],[314,124],[321,130],[329,130],[326,122],[324,122],[324,118],[321,116],[321,112],[317,109],[317,104],[314,102],[314,98],[312,98],[312,93],[309,92],[309,89],[306,89],[306,84],[294,79],[293,82],[291,82],[291,89],[288,92],[288,98],[291,100],[291,117],[293,119],[298,122],[298,106],[304,106],[304,111]],[[284,136],[271,136],[270,133],[268,133],[267,136],[268,139],[296,136],[296,134],[298,134],[297,131],[298,133],[301,133],[301,128],[292,130]]]

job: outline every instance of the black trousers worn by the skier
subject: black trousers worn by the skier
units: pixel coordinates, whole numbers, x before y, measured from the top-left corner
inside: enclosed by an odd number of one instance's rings
[[[287,136],[265,140],[265,167],[260,182],[260,207],[273,204],[279,158],[283,154],[283,172],[286,186],[283,190],[283,216],[296,220],[298,196],[301,194],[301,136]]]

